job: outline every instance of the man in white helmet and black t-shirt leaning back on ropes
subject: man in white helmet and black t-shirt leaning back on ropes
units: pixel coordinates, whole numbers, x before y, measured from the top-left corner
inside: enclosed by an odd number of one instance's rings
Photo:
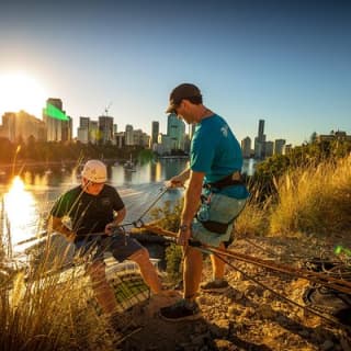
[[[117,191],[105,183],[105,165],[89,160],[81,176],[81,184],[63,194],[52,208],[50,227],[73,242],[80,256],[88,258],[86,269],[95,298],[113,326],[123,329],[114,291],[105,275],[104,252],[111,252],[120,262],[126,259],[136,262],[152,293],[160,293],[161,282],[147,249],[123,234],[111,236],[123,222],[126,210]]]

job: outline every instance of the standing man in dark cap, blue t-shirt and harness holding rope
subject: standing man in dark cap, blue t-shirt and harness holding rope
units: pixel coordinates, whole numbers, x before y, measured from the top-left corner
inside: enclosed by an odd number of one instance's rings
[[[163,319],[178,321],[201,317],[195,297],[202,275],[202,252],[188,246],[189,239],[225,248],[230,240],[234,219],[244,208],[249,193],[241,182],[240,145],[226,121],[203,104],[196,86],[183,83],[174,88],[167,113],[176,113],[186,123],[196,124],[190,168],[170,180],[173,186],[189,180],[178,231],[178,244],[183,246],[184,252],[183,299],[160,309]],[[227,288],[225,263],[214,256],[212,263],[214,279],[202,288]]]

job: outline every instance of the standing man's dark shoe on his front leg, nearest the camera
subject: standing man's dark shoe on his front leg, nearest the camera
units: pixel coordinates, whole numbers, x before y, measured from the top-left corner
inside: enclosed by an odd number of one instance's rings
[[[199,305],[184,298],[176,304],[160,308],[160,317],[168,321],[195,320],[201,318]]]

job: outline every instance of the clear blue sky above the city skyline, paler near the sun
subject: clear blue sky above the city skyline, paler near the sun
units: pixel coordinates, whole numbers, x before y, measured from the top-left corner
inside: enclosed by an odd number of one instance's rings
[[[110,102],[118,131],[166,132],[171,89],[193,82],[239,140],[260,118],[269,140],[293,145],[351,134],[350,63],[348,1],[0,4],[0,73],[24,70],[60,98],[75,133]]]

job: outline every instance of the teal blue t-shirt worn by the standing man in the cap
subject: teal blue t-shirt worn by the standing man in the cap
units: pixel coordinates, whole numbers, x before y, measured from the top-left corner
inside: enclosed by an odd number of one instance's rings
[[[216,182],[236,171],[241,171],[240,145],[224,118],[214,114],[196,124],[191,143],[190,168],[205,173],[204,182]],[[244,185],[231,185],[220,191],[229,197],[246,199]]]

